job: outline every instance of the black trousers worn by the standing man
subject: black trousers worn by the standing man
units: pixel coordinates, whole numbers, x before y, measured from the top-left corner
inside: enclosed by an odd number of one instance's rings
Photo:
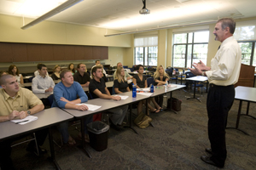
[[[227,157],[225,127],[227,117],[235,99],[234,85],[210,84],[207,96],[208,137],[211,143],[211,160],[223,167]]]

